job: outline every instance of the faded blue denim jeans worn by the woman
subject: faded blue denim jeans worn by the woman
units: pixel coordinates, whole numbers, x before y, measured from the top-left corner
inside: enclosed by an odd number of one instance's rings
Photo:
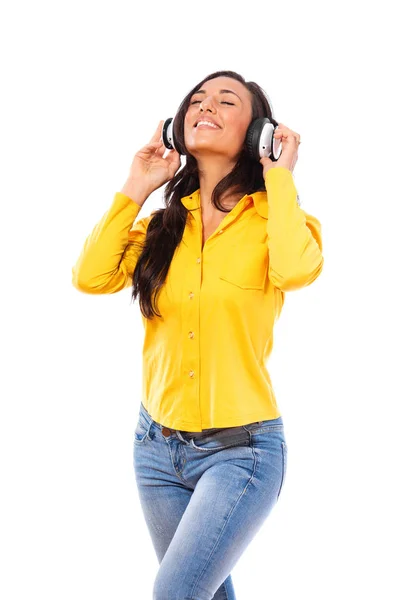
[[[133,464],[160,563],[153,600],[236,600],[230,572],[285,480],[282,417],[186,432],[141,403]]]

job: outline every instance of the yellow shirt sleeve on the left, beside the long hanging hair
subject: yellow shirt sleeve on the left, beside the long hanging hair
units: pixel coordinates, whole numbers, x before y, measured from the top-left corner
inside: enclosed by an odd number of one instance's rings
[[[141,206],[121,192],[88,235],[72,267],[72,285],[88,294],[113,294],[132,284],[146,237],[149,215],[136,221]],[[132,225],[133,223],[133,225]]]

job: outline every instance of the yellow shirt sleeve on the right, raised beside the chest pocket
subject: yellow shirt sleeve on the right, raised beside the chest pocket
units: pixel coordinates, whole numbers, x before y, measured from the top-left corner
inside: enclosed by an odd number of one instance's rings
[[[268,277],[280,290],[310,285],[321,273],[321,223],[297,203],[292,173],[273,167],[265,176],[268,198]]]

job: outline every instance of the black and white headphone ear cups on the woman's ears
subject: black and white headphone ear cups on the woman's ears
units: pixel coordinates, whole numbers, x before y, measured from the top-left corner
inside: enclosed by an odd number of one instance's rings
[[[282,152],[282,142],[274,138],[275,129],[278,127],[275,119],[273,122],[268,117],[254,119],[247,130],[245,147],[251,158],[257,162],[264,156],[276,161]],[[174,118],[170,117],[164,121],[162,140],[168,150],[175,148]]]

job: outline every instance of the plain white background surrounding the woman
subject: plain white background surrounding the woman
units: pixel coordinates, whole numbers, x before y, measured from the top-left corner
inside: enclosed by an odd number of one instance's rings
[[[71,269],[158,122],[231,69],[300,133],[295,182],[325,256],[275,328],[287,476],[232,571],[237,599],[397,599],[394,3],[135,6],[1,9],[0,595],[152,597],[158,563],[132,464],[139,307],[131,288],[78,292]]]

